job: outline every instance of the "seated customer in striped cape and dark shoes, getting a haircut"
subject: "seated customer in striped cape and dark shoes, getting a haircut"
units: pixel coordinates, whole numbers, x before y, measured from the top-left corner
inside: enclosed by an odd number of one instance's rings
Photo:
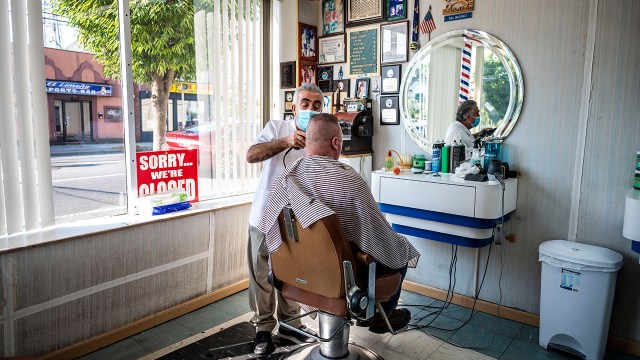
[[[276,179],[258,225],[267,234],[267,249],[272,253],[282,245],[277,217],[286,205],[291,205],[303,224],[335,213],[346,239],[371,255],[377,270],[395,269],[404,279],[407,267],[416,267],[420,254],[389,226],[364,179],[351,166],[338,161],[341,149],[342,131],[337,118],[324,113],[311,117],[306,156]],[[394,330],[404,328],[411,319],[408,309],[396,309],[399,299],[400,289],[381,304]],[[369,330],[388,331],[380,314],[371,318]]]

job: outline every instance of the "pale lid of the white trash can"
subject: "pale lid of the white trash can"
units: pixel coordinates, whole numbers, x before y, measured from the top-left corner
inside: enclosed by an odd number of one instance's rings
[[[566,240],[550,240],[540,244],[541,255],[569,261],[575,264],[597,266],[618,270],[622,267],[623,258],[619,253],[589,244]]]

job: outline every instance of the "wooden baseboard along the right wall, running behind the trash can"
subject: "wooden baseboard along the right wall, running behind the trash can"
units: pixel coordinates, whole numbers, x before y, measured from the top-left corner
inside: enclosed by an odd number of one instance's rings
[[[447,296],[447,292],[445,290],[406,280],[402,283],[402,289],[442,301],[444,301]],[[454,293],[453,298],[451,299],[451,303],[471,309],[473,307],[473,298],[466,295]],[[476,302],[475,309],[483,313],[500,316],[503,319],[513,320],[527,325],[540,327],[540,316],[528,313],[526,311],[490,303],[484,300],[478,300]],[[614,350],[622,351],[627,354],[640,356],[640,343],[635,341],[609,335],[607,337],[607,347]]]

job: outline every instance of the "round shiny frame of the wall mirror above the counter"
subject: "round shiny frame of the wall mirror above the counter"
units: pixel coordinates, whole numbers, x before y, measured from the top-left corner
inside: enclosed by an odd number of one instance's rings
[[[502,120],[498,122],[496,130],[493,133],[493,137],[497,137],[500,139],[506,138],[511,133],[511,130],[513,130],[513,127],[515,126],[520,115],[520,111],[522,110],[522,103],[524,100],[524,80],[522,77],[522,71],[520,70],[520,65],[518,65],[516,57],[504,42],[489,33],[474,29],[452,30],[438,35],[436,38],[429,41],[413,56],[413,58],[407,65],[406,70],[404,70],[402,82],[400,85],[400,115],[402,124],[405,130],[409,133],[411,139],[427,153],[431,152],[431,146],[436,139],[422,138],[422,136],[420,136],[417,131],[411,126],[411,122],[405,120],[409,118],[407,94],[409,92],[410,84],[408,84],[408,81],[410,77],[413,76],[413,69],[421,66],[424,62],[424,59],[427,58],[432,50],[446,45],[446,43],[450,42],[452,39],[463,38],[465,36],[473,38],[474,41],[480,42],[486,48],[489,48],[496,55],[496,57],[500,59],[503,66],[507,70],[507,74],[509,77],[509,105],[507,106],[507,110],[502,117]],[[427,95],[429,93],[428,86],[429,85],[427,84]],[[418,119],[426,121],[426,126],[429,126],[428,114],[420,116]],[[452,119],[452,121],[454,121],[454,119]],[[442,134],[442,136],[444,137],[444,134]]]

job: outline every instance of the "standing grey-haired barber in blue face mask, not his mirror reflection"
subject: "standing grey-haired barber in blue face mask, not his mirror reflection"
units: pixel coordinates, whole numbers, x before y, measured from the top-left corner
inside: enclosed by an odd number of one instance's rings
[[[309,83],[302,84],[293,95],[291,109],[294,119],[292,121],[269,121],[247,151],[249,163],[262,162],[262,173],[249,215],[249,241],[247,244],[249,305],[253,311],[250,322],[256,327],[254,340],[254,354],[256,355],[270,354],[275,350],[271,339],[271,332],[277,324],[274,313],[277,311],[278,319],[284,320],[298,315],[300,311],[297,303],[283,298],[269,284],[269,253],[264,244],[265,235],[256,227],[264,212],[269,190],[275,178],[284,171],[286,165],[304,156],[307,123],[313,114],[322,110],[322,102],[323,94],[320,88]],[[303,327],[300,320],[291,325]],[[279,328],[278,331],[281,335],[294,336],[299,341],[314,341],[312,338],[293,330]]]

